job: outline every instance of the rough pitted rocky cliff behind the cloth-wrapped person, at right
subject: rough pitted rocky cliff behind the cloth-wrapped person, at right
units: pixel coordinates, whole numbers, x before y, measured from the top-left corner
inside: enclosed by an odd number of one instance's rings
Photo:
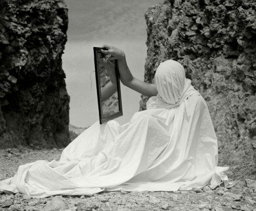
[[[164,60],[183,64],[208,104],[220,161],[254,168],[255,9],[255,0],[170,0],[145,14],[145,81],[153,82],[156,68]],[[142,96],[141,110],[146,100]]]

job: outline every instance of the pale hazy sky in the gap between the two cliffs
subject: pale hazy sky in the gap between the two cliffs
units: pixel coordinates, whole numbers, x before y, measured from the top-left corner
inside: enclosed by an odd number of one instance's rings
[[[69,9],[68,42],[62,55],[70,95],[70,124],[88,127],[99,120],[93,47],[114,45],[125,52],[134,77],[143,81],[146,58],[144,14],[163,0],[65,0]],[[140,93],[121,85],[123,116],[139,110]]]

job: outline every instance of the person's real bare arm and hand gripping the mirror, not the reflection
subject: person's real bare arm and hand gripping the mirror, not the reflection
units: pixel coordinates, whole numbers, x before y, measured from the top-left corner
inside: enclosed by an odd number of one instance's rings
[[[102,53],[111,55],[105,62],[108,63],[114,59],[118,59],[118,69],[120,73],[121,82],[131,89],[138,91],[142,95],[149,97],[157,95],[157,89],[155,84],[145,83],[133,77],[125,59],[125,54],[122,50],[115,48],[114,46],[104,45],[103,48],[107,50],[102,50]]]

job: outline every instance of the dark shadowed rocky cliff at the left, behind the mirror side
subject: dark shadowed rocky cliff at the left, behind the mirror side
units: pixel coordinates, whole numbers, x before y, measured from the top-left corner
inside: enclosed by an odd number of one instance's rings
[[[63,0],[1,0],[1,148],[70,142],[69,96],[61,67],[67,28]]]

